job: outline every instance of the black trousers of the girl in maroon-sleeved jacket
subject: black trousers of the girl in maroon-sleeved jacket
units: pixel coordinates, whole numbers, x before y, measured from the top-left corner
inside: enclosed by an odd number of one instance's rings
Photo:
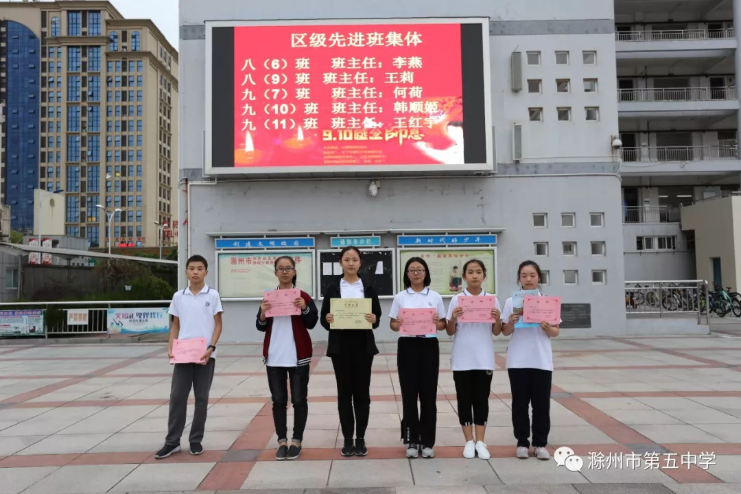
[[[293,405],[293,440],[302,441],[309,404],[309,366],[270,367],[268,366],[268,386],[273,400],[273,423],[276,426],[278,441],[288,441],[286,409],[288,408],[288,381],[290,381],[290,403]]]

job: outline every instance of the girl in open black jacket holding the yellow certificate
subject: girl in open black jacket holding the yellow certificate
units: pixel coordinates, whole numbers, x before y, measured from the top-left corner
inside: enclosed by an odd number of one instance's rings
[[[327,356],[337,381],[337,410],[345,444],[343,456],[365,456],[365,430],[371,414],[371,367],[378,352],[373,330],[379,326],[381,304],[371,281],[361,279],[362,255],[356,247],[339,254],[342,277],[325,288],[320,322],[329,331]],[[366,310],[370,303],[371,310]],[[353,435],[355,441],[353,443]]]

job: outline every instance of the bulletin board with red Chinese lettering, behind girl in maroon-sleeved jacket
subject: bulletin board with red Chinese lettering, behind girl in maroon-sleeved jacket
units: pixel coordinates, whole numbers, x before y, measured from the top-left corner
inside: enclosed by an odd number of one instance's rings
[[[222,300],[262,300],[265,290],[275,290],[275,260],[290,256],[296,261],[296,288],[314,297],[313,250],[239,250],[216,253],[216,290]]]

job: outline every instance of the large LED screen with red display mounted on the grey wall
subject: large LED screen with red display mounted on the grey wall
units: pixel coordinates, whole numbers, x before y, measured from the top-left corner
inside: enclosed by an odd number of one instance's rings
[[[491,172],[488,19],[206,22],[206,173]]]

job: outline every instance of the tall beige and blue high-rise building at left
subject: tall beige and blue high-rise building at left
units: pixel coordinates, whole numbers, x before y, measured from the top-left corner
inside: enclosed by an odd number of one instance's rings
[[[30,231],[33,190],[64,191],[65,232],[154,246],[177,210],[178,53],[109,1],[0,2],[0,200]],[[168,237],[165,235],[165,237]]]

